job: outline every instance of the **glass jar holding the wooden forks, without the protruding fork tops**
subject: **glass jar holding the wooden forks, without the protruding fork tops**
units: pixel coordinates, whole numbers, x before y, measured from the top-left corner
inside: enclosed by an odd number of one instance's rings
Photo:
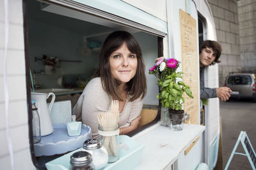
[[[108,151],[108,163],[119,159],[119,125],[102,127],[99,125],[99,139]]]

